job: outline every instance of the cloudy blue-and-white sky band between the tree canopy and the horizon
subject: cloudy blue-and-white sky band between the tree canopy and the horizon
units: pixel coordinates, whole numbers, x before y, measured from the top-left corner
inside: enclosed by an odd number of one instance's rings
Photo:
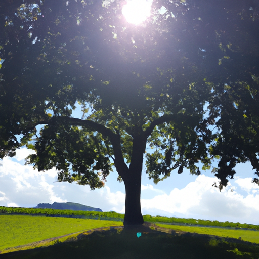
[[[24,165],[29,150],[21,148],[13,158],[5,157],[0,166],[0,205],[34,207],[38,203],[77,202],[124,213],[124,184],[117,182],[117,172],[111,172],[106,186],[91,191],[88,186],[57,183],[57,172],[38,172]],[[195,218],[259,225],[259,186],[252,184],[249,163],[237,167],[236,178],[222,192],[212,184],[213,174],[204,171],[192,176],[177,172],[155,185],[142,175],[142,213],[167,217]]]

